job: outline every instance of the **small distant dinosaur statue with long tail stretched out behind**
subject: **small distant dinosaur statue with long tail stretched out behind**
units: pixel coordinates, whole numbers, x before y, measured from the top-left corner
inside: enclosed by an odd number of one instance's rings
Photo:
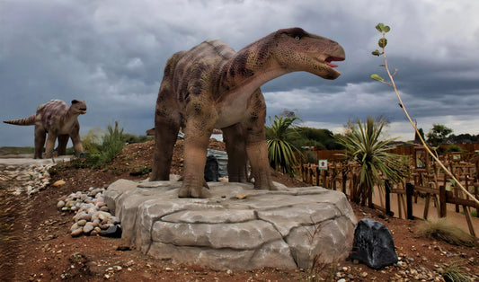
[[[80,140],[80,124],[78,116],[86,113],[86,104],[82,100],[73,100],[68,107],[65,101],[51,100],[37,108],[37,113],[25,119],[4,120],[4,123],[18,126],[35,126],[35,159],[41,159],[43,145],[47,133],[45,156],[50,158],[53,154],[55,141],[58,137],[58,155],[67,153],[68,137],[72,138],[76,154],[84,152]]]

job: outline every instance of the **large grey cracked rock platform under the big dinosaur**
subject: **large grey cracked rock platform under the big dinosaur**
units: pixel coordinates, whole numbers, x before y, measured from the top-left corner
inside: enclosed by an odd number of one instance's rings
[[[178,198],[181,184],[113,182],[104,200],[122,238],[155,258],[210,269],[307,269],[315,256],[350,253],[357,221],[339,191],[208,182],[211,198]]]

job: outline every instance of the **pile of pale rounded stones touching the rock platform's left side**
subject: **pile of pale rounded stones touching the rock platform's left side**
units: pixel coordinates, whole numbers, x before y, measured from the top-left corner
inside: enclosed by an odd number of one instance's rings
[[[112,216],[103,201],[105,189],[91,187],[87,192],[77,191],[59,198],[57,207],[62,211],[75,212],[72,237],[80,235],[120,236],[120,220]]]

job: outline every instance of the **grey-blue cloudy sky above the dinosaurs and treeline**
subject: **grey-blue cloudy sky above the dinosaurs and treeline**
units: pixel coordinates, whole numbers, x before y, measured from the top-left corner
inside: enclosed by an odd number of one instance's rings
[[[388,64],[418,126],[479,134],[479,1],[162,0],[0,1],[0,114],[21,119],[51,99],[82,99],[81,134],[119,121],[144,135],[154,126],[164,64],[179,50],[220,39],[239,50],[282,28],[338,41],[342,75],[300,72],[262,86],[268,115],[295,110],[306,126],[342,133],[349,119],[384,115],[390,137],[413,138],[377,48],[387,34]],[[0,146],[33,145],[33,127],[0,123]]]

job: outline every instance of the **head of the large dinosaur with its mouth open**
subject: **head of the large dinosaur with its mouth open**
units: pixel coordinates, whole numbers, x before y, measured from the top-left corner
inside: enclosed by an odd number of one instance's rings
[[[291,71],[306,71],[324,79],[341,75],[332,61],[345,58],[344,49],[333,40],[308,33],[300,28],[279,30],[271,34],[276,48],[273,56],[279,66]]]

